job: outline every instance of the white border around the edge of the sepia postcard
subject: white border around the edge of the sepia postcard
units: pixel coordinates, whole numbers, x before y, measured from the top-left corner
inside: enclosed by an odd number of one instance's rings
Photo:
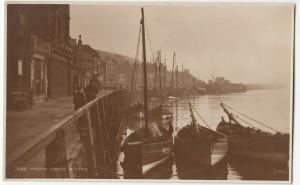
[[[10,3],[18,3],[18,2],[24,2],[24,1],[9,1]],[[49,1],[26,1],[26,3],[49,3]],[[54,0],[54,1],[51,1],[51,3],[72,3],[72,4],[86,4],[86,3],[89,3],[89,4],[99,4],[100,1],[96,1],[96,0],[89,0],[89,1],[59,1],[59,0]],[[137,4],[137,3],[146,3],[148,4],[149,2],[151,2],[151,4],[153,3],[174,3],[174,4],[181,4],[181,3],[199,3],[199,2],[202,2],[202,3],[296,3],[296,28],[295,28],[295,33],[297,33],[297,31],[299,31],[299,12],[297,10],[298,6],[299,5],[299,2],[298,1],[290,1],[290,0],[263,0],[263,1],[260,1],[260,0],[247,0],[247,1],[239,1],[239,0],[233,0],[233,1],[225,1],[225,0],[219,0],[219,1],[208,1],[208,0],[197,0],[197,1],[192,1],[192,0],[188,0],[188,1],[181,1],[181,0],[164,0],[164,1],[159,1],[159,0],[151,0],[151,1],[143,1],[143,0],[131,0],[130,1],[131,3],[130,4]],[[105,3],[105,4],[120,4],[120,3],[128,3],[128,1],[121,1],[121,0],[104,0],[104,1],[101,1],[100,3]],[[2,78],[0,78],[0,87],[4,87],[3,88],[3,91],[0,91],[0,110],[3,110],[3,108],[5,107],[4,106],[4,99],[2,99],[4,96],[4,92],[5,92],[5,86],[6,86],[6,82],[5,82],[5,55],[6,55],[6,52],[5,52],[5,47],[4,47],[4,44],[6,43],[5,42],[5,5],[4,3],[1,3],[0,4],[0,17],[2,19],[0,19],[0,27],[1,27],[1,35],[0,35],[0,41],[1,44],[0,45],[0,63],[3,64],[3,65],[0,65],[0,75],[2,76]],[[300,93],[300,87],[299,87],[299,81],[300,81],[300,77],[299,75],[297,74],[297,72],[300,71],[300,67],[299,65],[297,65],[298,62],[297,61],[297,54],[299,54],[299,37],[298,35],[295,35],[295,63],[294,63],[294,67],[295,67],[295,82],[294,82],[294,126],[293,126],[293,139],[294,139],[294,150],[293,150],[293,166],[292,166],[292,175],[293,175],[293,184],[300,184],[300,177],[299,174],[300,173],[300,164],[299,164],[299,160],[300,160],[300,149],[297,147],[300,143],[300,130],[299,130],[299,126],[297,125],[297,123],[300,124],[300,109],[299,109],[299,103],[300,103],[300,100],[297,98],[297,93]],[[293,93],[293,92],[291,92]],[[292,105],[291,105],[292,106]],[[5,122],[4,122],[4,114],[3,112],[0,113],[0,120],[3,121],[3,126],[5,125]],[[1,127],[2,129],[3,127]],[[292,128],[292,127],[290,127]],[[3,131],[3,130],[2,130]],[[4,134],[4,132],[1,132]],[[5,135],[0,135],[0,137],[2,138],[2,141],[4,141],[3,139],[5,139],[4,137]],[[4,141],[5,142],[5,141]],[[1,150],[0,150],[0,158],[3,159],[3,147],[1,147]],[[3,162],[1,160],[1,162]],[[3,171],[3,164],[0,164],[0,174],[3,175],[4,171]],[[4,177],[2,177],[2,180],[3,180]],[[76,181],[76,182],[75,182]],[[78,182],[80,181],[80,182]],[[72,184],[79,184],[81,182],[87,182],[88,183],[99,183],[101,181],[101,184],[115,184],[116,182],[118,183],[126,183],[126,184],[135,184],[135,183],[140,183],[140,182],[143,182],[143,184],[150,184],[150,180],[72,180],[72,179],[61,179],[61,180],[50,180],[50,182],[47,180],[32,180],[32,179],[26,179],[26,180],[23,180],[23,181],[1,181],[0,183],[1,184],[40,184],[41,182],[43,183],[46,183],[46,184],[66,184],[66,183],[72,183]],[[158,183],[158,184],[162,184],[162,183],[175,183],[175,184],[182,184],[182,183],[186,183],[186,182],[197,182],[197,183],[202,183],[202,184],[225,184],[225,183],[230,183],[230,184],[267,184],[267,183],[272,183],[272,184],[282,184],[281,182],[277,182],[277,181],[230,181],[230,180],[225,180],[225,181],[187,181],[187,180],[151,180],[151,183]],[[240,182],[240,183],[239,183]],[[259,183],[257,183],[259,182]]]

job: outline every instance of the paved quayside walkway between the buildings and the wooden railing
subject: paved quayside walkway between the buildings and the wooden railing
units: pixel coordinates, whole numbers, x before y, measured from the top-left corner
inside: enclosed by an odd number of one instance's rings
[[[109,93],[101,91],[98,96]],[[6,112],[6,154],[26,143],[41,131],[50,128],[73,112],[73,99],[64,97],[36,104],[24,111]]]

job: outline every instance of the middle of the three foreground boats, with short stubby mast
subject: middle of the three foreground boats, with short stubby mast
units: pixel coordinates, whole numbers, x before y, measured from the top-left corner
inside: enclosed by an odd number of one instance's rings
[[[189,103],[191,123],[183,127],[174,140],[175,159],[202,167],[223,161],[227,154],[227,137],[197,123]]]

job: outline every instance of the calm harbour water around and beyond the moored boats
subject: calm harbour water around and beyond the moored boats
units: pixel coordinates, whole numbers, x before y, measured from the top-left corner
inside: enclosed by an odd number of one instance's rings
[[[289,90],[252,90],[245,93],[232,93],[226,95],[204,95],[193,97],[181,97],[168,99],[166,104],[170,105],[170,110],[174,116],[174,130],[176,132],[190,122],[190,112],[188,103],[191,103],[194,109],[200,114],[210,128],[216,128],[221,120],[221,116],[227,120],[227,115],[220,106],[223,102],[235,108],[239,112],[259,120],[274,129],[289,133],[290,132],[290,93]],[[155,105],[158,102],[152,101]],[[200,117],[195,113],[198,123],[206,126]],[[251,122],[252,123],[252,122]],[[254,125],[262,130],[271,131],[259,124]],[[246,125],[247,126],[247,125]],[[141,125],[129,125],[129,128],[135,130]],[[128,129],[128,130],[131,130]],[[127,133],[129,134],[129,133]],[[271,180],[282,179],[283,167],[274,164],[263,164],[257,161],[249,161],[239,158],[228,158],[224,163],[211,170],[209,174],[202,177],[203,171],[196,167],[188,169],[178,169],[176,164],[171,163],[157,169],[156,173],[164,175],[166,179],[228,179],[228,180]],[[163,173],[162,173],[163,172]],[[206,170],[206,173],[207,170]],[[155,174],[154,174],[155,176]]]

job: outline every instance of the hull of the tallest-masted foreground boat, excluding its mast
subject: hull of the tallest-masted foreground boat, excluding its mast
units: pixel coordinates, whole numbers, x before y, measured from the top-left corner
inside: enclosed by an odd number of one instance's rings
[[[123,167],[140,176],[172,158],[172,133],[152,123],[148,136],[144,128],[133,132],[124,142]]]

